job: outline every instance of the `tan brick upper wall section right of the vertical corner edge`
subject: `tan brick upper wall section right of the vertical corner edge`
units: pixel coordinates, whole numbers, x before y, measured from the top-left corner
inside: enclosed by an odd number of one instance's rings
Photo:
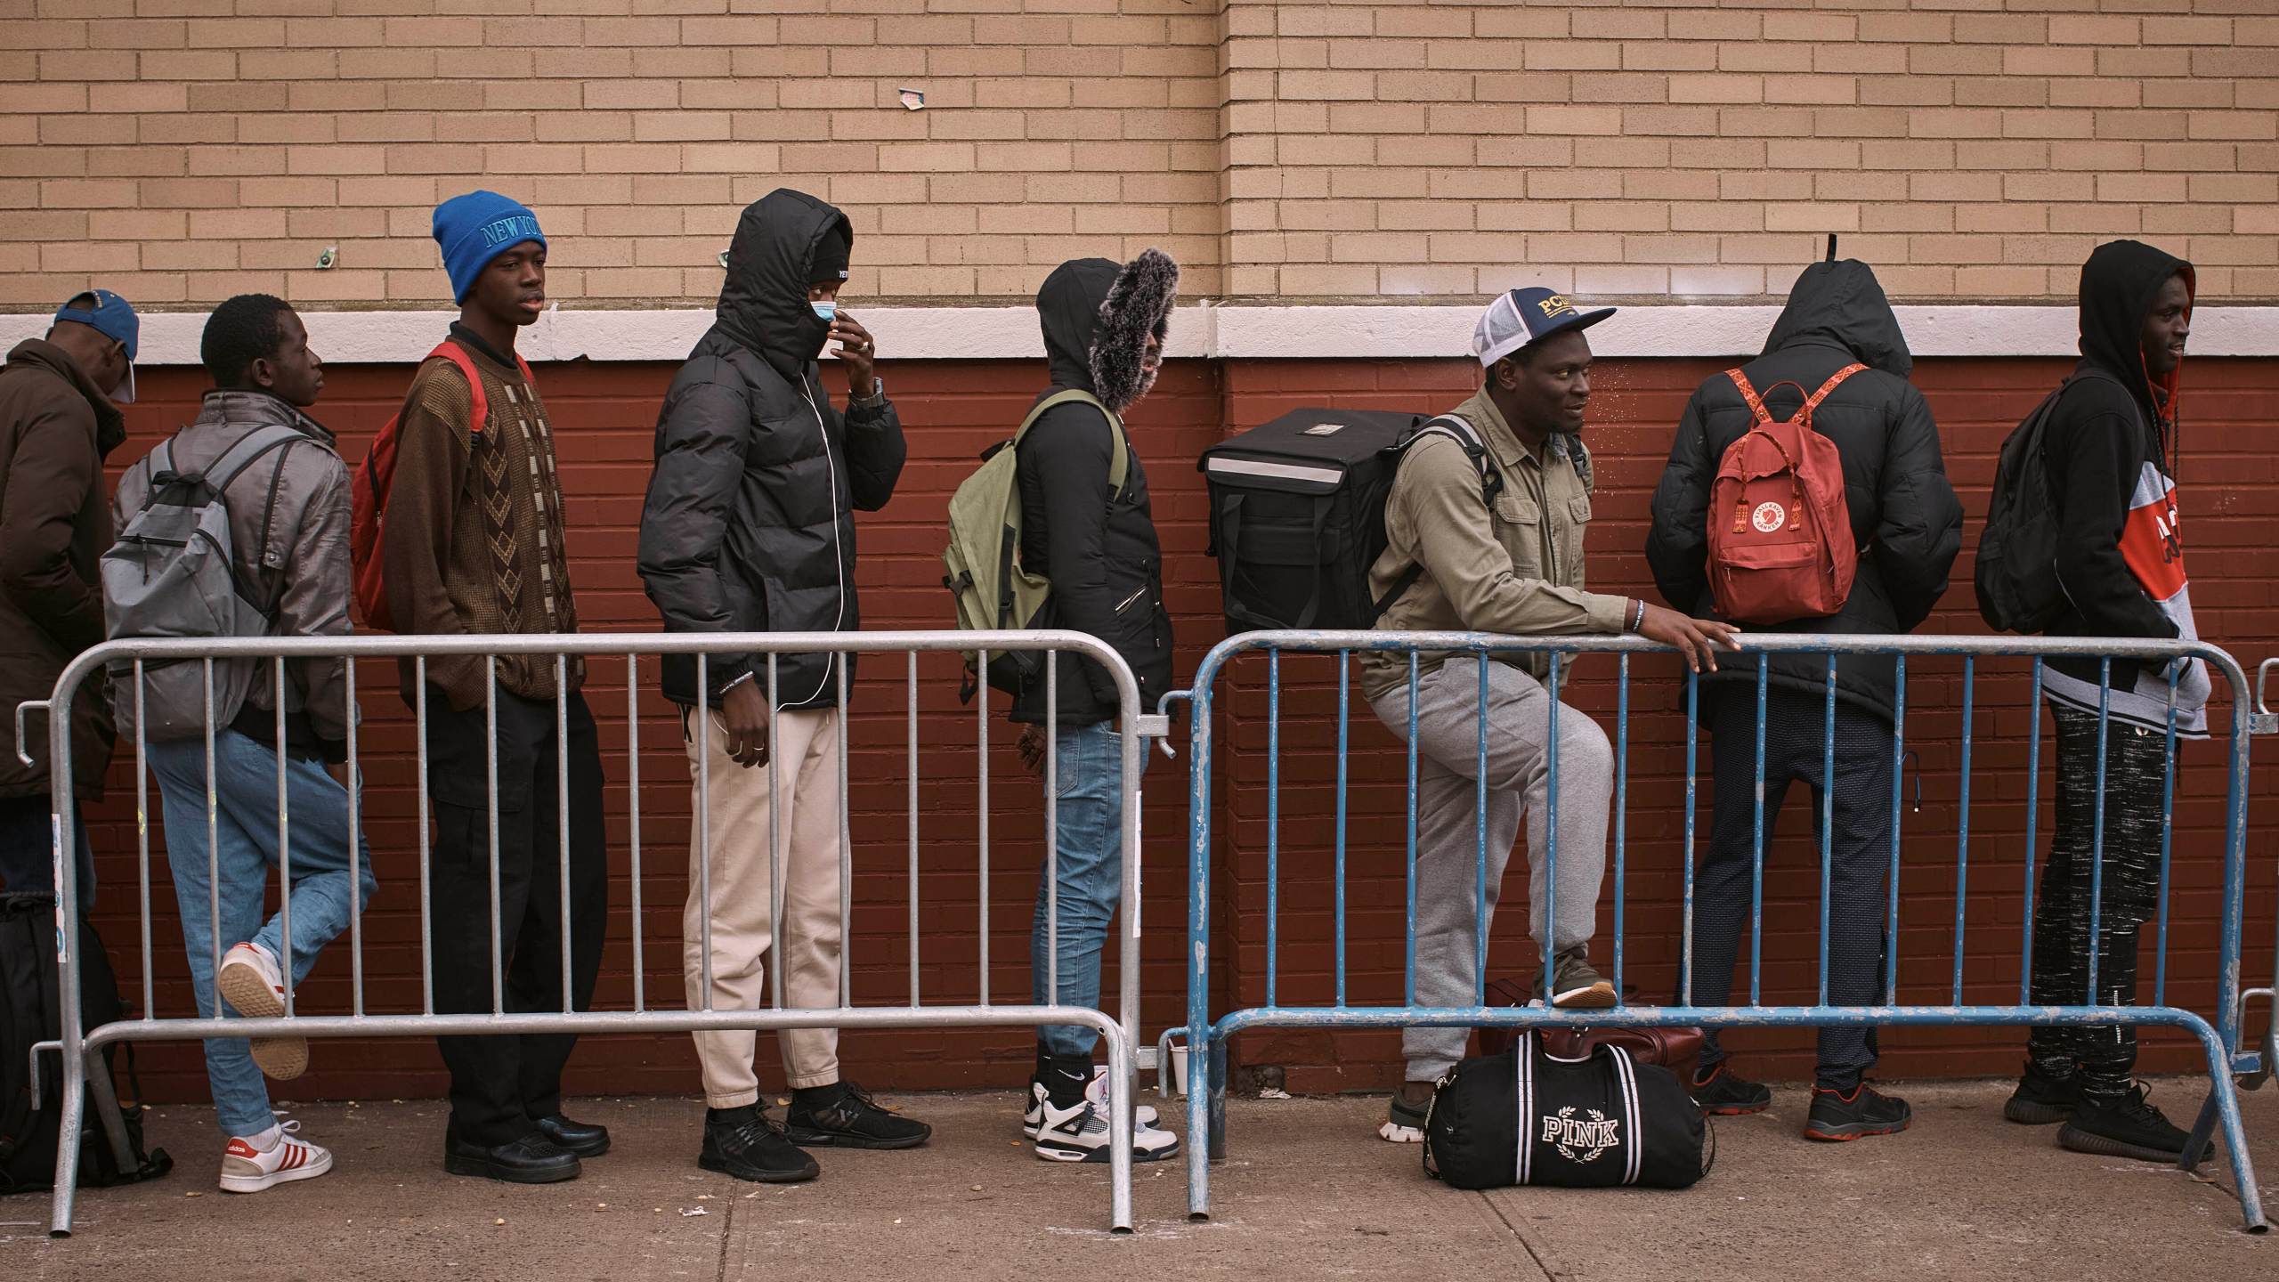
[[[2274,0],[1228,0],[1231,294],[2279,297]]]

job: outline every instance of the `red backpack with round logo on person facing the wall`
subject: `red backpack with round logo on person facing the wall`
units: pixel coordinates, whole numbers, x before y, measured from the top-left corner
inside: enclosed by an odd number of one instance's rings
[[[1709,595],[1725,618],[1789,623],[1844,609],[1860,550],[1844,502],[1844,459],[1812,431],[1812,411],[1860,370],[1867,365],[1837,370],[1787,422],[1773,422],[1739,370],[1725,372],[1757,417],[1725,449],[1709,488]]]

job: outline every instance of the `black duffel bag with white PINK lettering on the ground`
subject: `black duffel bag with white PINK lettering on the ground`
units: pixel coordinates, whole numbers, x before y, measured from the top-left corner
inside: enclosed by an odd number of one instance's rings
[[[1531,1029],[1449,1070],[1424,1113],[1424,1173],[1456,1188],[1691,1188],[1714,1159],[1677,1074],[1616,1045],[1559,1058]]]

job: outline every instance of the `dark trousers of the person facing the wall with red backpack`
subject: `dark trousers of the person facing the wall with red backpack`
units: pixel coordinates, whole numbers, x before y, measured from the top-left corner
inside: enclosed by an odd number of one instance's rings
[[[1716,810],[1709,855],[1693,869],[1693,1004],[1727,1006],[1732,972],[1748,933],[1750,846],[1757,805],[1757,691],[1734,687],[1707,700],[1716,753]],[[1825,700],[1773,687],[1764,705],[1764,835],[1771,839],[1789,782],[1812,787],[1812,835],[1819,855]],[[1828,1004],[1871,1006],[1882,995],[1885,878],[1892,867],[1892,725],[1837,703],[1835,798],[1828,860]],[[1766,869],[1766,896],[1780,890],[1814,903],[1819,931],[1819,858],[1810,867]],[[1814,988],[1816,988],[1814,976]],[[1680,988],[1680,992],[1684,992]],[[1821,1029],[1814,1081],[1851,1090],[1876,1065],[1876,1029]],[[1700,1070],[1725,1058],[1716,1031]]]

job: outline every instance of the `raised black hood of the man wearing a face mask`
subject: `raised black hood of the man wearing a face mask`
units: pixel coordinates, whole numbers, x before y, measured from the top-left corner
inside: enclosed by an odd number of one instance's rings
[[[786,379],[823,354],[832,324],[807,306],[825,242],[855,244],[855,228],[834,205],[777,187],[745,205],[727,251],[718,322],[736,342],[768,358]],[[830,246],[836,251],[836,244]]]

